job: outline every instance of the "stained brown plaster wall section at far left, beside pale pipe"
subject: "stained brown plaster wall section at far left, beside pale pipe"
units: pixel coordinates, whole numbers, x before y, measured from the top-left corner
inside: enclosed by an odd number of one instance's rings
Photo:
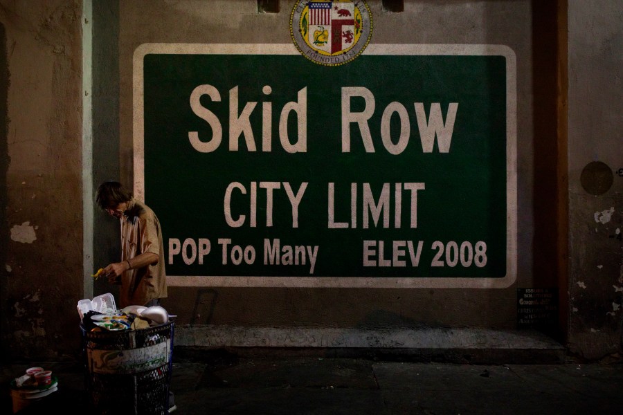
[[[80,15],[80,1],[0,2],[7,77],[0,146],[5,358],[64,358],[80,347]]]

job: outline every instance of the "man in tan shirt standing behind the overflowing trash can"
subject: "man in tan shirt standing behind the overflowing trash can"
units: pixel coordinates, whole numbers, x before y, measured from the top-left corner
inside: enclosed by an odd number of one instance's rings
[[[162,228],[156,214],[121,183],[102,183],[96,203],[121,224],[121,261],[105,266],[111,284],[120,284],[120,308],[159,306],[167,297]],[[177,409],[169,391],[169,412]]]

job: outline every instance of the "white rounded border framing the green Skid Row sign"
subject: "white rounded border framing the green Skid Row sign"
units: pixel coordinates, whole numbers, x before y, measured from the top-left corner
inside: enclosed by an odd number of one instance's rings
[[[134,50],[134,195],[145,200],[143,58],[152,53],[184,55],[300,55],[294,44],[142,44]],[[496,55],[506,58],[506,275],[501,278],[422,277],[226,277],[169,275],[168,286],[310,288],[507,288],[517,276],[517,89],[516,57],[504,45],[370,44],[362,55]]]

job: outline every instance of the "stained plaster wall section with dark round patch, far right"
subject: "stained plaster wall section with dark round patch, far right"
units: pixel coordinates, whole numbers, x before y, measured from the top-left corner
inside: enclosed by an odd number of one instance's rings
[[[598,7],[596,7],[598,5]],[[623,3],[569,2],[569,349],[623,342]]]

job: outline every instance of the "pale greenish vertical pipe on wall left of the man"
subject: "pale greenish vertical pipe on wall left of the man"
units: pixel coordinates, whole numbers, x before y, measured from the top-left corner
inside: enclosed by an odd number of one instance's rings
[[[82,298],[93,297],[93,3],[82,1]]]

